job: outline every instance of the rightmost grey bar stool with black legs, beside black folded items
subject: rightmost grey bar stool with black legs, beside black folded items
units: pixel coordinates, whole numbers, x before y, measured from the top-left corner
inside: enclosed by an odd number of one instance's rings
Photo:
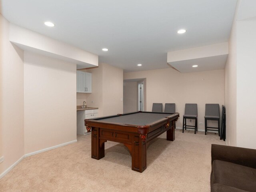
[[[207,120],[218,121],[218,127],[208,127]],[[207,130],[209,131],[218,131],[220,136],[220,106],[219,104],[205,104],[205,116],[204,116],[204,133],[206,134]],[[212,129],[208,129],[212,128]],[[218,129],[218,130],[216,130]]]

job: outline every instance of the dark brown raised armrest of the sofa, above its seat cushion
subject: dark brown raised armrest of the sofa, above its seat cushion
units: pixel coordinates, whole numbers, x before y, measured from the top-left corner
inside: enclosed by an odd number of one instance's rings
[[[214,160],[256,168],[256,149],[212,144],[212,162]]]

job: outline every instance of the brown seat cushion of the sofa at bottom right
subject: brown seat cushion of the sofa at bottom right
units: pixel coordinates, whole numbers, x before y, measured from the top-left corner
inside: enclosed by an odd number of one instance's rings
[[[256,192],[256,169],[214,160],[212,163],[211,186],[216,183]]]

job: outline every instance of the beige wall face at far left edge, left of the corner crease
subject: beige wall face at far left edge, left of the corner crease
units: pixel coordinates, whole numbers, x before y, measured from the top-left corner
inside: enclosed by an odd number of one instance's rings
[[[0,174],[24,155],[23,51],[9,42],[9,22],[0,14],[1,141]]]

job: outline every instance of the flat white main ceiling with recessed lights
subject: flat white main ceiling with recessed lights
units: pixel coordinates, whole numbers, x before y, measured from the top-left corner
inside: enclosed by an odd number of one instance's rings
[[[236,0],[2,0],[1,12],[130,72],[169,68],[169,51],[227,42],[235,6]],[[181,28],[187,32],[177,34]]]

